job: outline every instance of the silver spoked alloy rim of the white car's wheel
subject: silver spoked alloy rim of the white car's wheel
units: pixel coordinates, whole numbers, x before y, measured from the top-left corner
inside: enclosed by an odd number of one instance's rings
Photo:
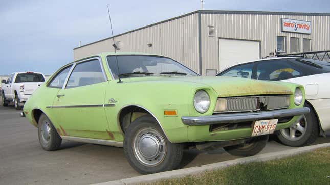
[[[293,123],[289,128],[282,129],[281,134],[285,139],[297,141],[305,135],[306,128],[307,120],[305,115],[302,115],[297,119],[297,122]]]

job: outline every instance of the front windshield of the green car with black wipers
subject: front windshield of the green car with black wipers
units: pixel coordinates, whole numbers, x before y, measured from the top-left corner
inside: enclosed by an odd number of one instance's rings
[[[119,55],[120,77],[140,77],[150,75],[198,76],[189,68],[170,58],[146,55]],[[116,56],[107,56],[107,61],[115,79],[119,72]],[[133,73],[133,74],[131,74]],[[152,73],[152,74],[150,74]]]

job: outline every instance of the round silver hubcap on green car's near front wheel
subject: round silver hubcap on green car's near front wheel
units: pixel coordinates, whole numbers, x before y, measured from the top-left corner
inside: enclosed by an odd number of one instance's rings
[[[146,166],[155,166],[164,160],[166,143],[163,136],[153,128],[143,128],[134,138],[134,155]]]

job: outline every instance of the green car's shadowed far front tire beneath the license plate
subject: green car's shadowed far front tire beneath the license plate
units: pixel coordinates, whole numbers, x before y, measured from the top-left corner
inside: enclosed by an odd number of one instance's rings
[[[269,135],[257,136],[247,140],[244,144],[226,146],[224,149],[235,156],[247,157],[259,153],[265,148]]]

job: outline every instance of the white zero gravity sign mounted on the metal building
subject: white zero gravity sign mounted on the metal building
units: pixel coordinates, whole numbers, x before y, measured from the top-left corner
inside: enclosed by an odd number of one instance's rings
[[[282,18],[282,32],[311,34],[311,22]]]

